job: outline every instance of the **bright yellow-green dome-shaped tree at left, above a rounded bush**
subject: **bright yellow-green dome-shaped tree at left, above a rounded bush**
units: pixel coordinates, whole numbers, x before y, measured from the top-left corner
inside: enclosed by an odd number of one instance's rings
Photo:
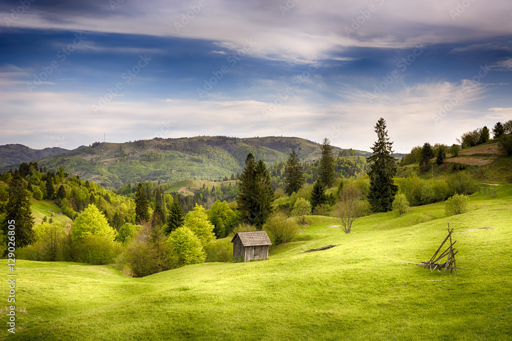
[[[116,233],[111,228],[105,216],[98,210],[94,203],[84,209],[76,217],[71,226],[71,239],[79,241],[89,236],[105,236],[114,240]]]

